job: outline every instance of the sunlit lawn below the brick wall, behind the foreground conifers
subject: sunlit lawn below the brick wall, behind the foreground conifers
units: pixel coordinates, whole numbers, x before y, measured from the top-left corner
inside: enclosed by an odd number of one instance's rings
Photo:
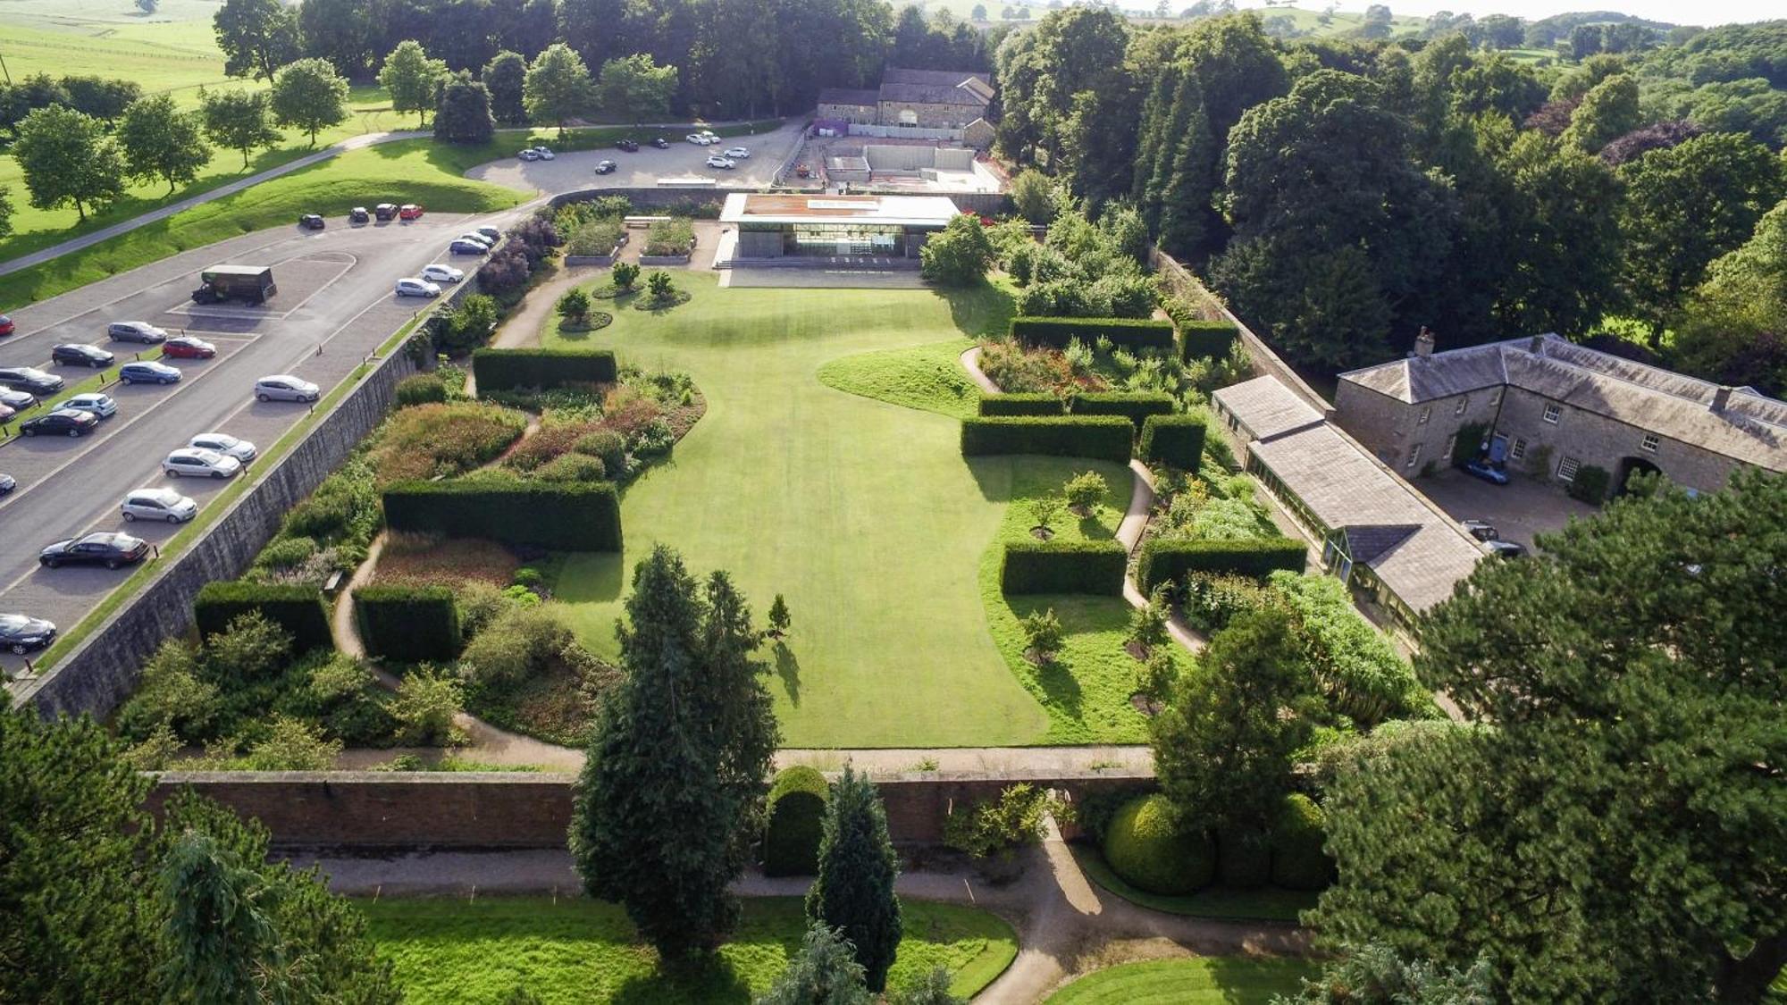
[[[776,980],[806,930],[799,898],[751,898],[715,964],[665,971],[620,907],[586,898],[386,898],[359,907],[409,1005],[497,1003],[516,987],[549,1005],[745,1003]],[[888,987],[947,966],[952,991],[969,998],[1017,957],[1017,933],[994,914],[927,901],[901,907],[906,937]]]

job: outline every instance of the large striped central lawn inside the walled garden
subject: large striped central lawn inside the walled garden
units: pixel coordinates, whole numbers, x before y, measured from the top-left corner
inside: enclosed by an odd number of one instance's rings
[[[1035,680],[1035,667],[1015,667],[988,628],[981,590],[983,560],[1013,494],[1099,465],[967,463],[956,418],[843,393],[818,374],[899,388],[895,399],[958,401],[940,361],[965,349],[965,336],[1004,325],[1003,290],[720,290],[701,274],[677,283],[693,297],[668,311],[622,308],[613,325],[568,338],[547,325],[547,345],[615,349],[625,363],[686,370],[708,399],[706,417],[670,460],[625,490],[625,554],[565,560],[554,595],[570,604],[586,646],[617,655],[625,578],[663,542],[701,574],[729,570],[758,617],[777,592],[786,595],[793,631],[767,653],[786,746],[1140,737],[1128,690],[1122,708],[1112,708],[1106,696],[1117,687],[1058,680],[1056,671]],[[895,356],[860,356],[883,350],[911,350],[926,390],[886,377],[911,370],[890,365]],[[1101,470],[1112,508],[1088,531],[1108,535],[1129,481],[1122,469]],[[1092,606],[1110,615],[1117,603]],[[1065,604],[1058,613],[1078,617]]]

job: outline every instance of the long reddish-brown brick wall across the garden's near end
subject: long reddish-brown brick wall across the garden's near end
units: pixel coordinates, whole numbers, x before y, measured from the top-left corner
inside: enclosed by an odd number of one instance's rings
[[[166,773],[159,808],[191,787],[256,817],[286,848],[563,848],[572,774],[391,771]],[[1153,787],[1145,773],[924,773],[876,778],[899,844],[936,844],[954,805],[995,799],[1019,781],[1058,789],[1074,803],[1113,789]]]

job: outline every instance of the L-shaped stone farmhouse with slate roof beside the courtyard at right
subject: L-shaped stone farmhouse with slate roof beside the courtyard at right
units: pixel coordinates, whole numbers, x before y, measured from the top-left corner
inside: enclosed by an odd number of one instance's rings
[[[1510,472],[1569,485],[1589,469],[1716,492],[1739,467],[1787,472],[1787,402],[1537,334],[1340,374],[1335,422],[1408,477],[1453,461],[1465,427]],[[1594,476],[1599,477],[1599,476]]]

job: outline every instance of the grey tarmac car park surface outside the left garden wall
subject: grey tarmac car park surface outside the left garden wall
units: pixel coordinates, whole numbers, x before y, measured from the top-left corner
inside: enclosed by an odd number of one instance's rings
[[[104,529],[125,529],[118,513],[125,492],[172,485],[198,501],[218,495],[225,481],[168,481],[161,458],[198,433],[222,431],[270,447],[309,406],[256,402],[252,386],[268,374],[297,374],[322,388],[345,379],[397,331],[422,300],[399,299],[391,283],[431,261],[450,259],[447,243],[474,225],[506,225],[522,211],[484,218],[425,216],[415,224],[347,225],[331,218],[323,231],[259,231],[195,252],[184,252],[63,297],[13,313],[16,334],[0,340],[0,367],[38,367],[70,384],[84,368],[50,367],[50,349],[89,342],[129,359],[138,345],[109,343],[105,325],[147,320],[170,333],[186,329],[216,343],[214,359],[170,359],[182,379],[172,386],[109,386],[118,415],[82,438],[13,438],[0,443],[0,472],[18,488],[0,499],[0,612],[46,617],[73,628],[130,569],[41,569],[38,551],[55,540]],[[197,306],[189,291],[207,265],[272,265],[279,295],[264,308]],[[150,542],[179,528],[129,524]],[[16,671],[20,656],[0,655]]]

